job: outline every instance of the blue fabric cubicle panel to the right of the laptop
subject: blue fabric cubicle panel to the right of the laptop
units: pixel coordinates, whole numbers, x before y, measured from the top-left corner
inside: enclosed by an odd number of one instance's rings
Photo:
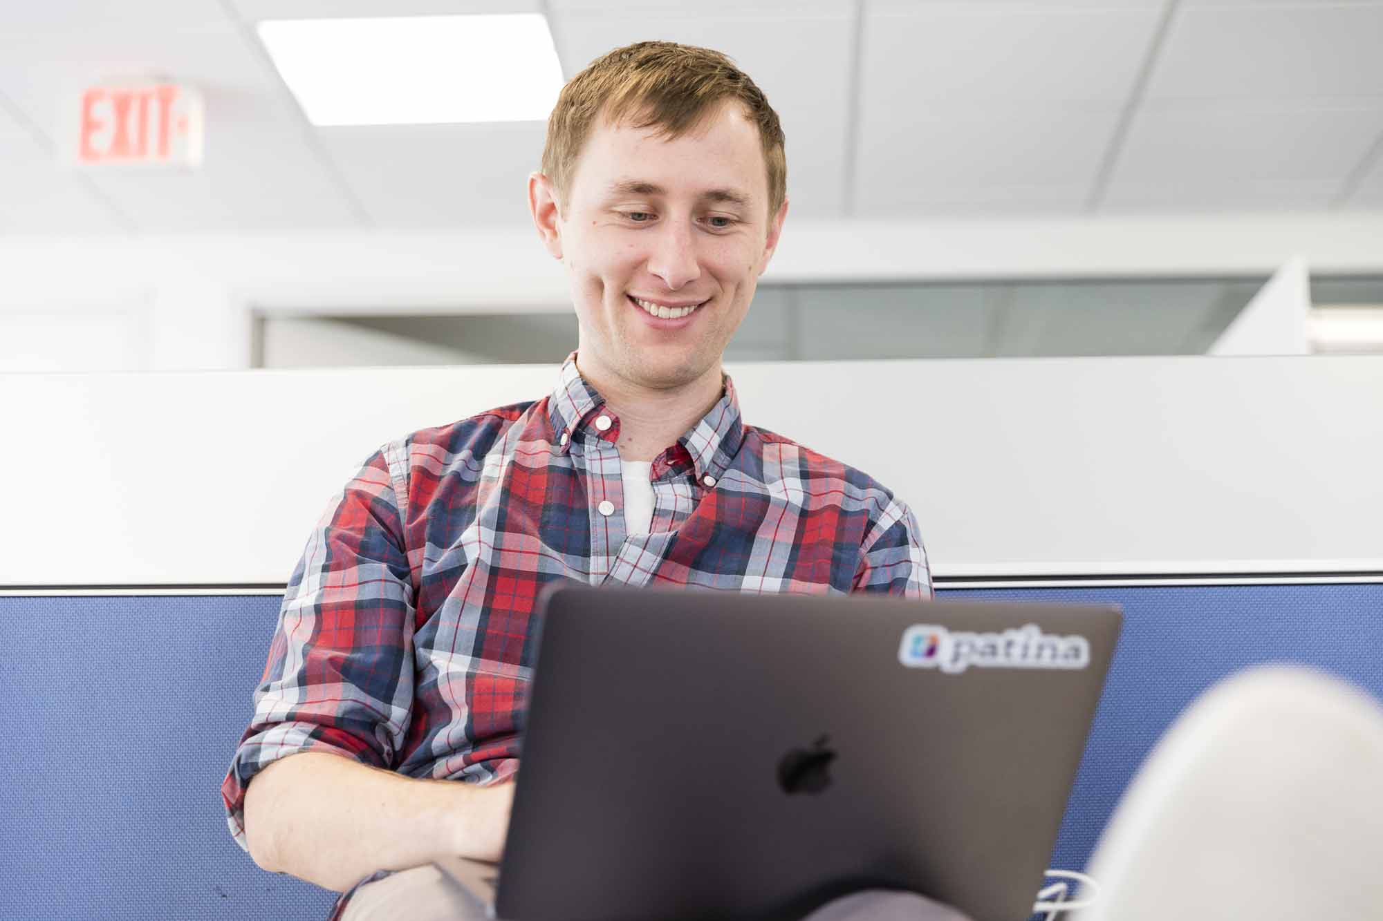
[[[1062,870],[1084,868],[1152,745],[1223,678],[1290,662],[1383,698],[1383,585],[1014,588],[938,597],[1123,606],[1123,632],[1048,864]]]

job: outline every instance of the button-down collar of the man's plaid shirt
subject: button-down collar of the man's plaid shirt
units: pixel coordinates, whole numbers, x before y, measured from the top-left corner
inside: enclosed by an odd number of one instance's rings
[[[725,390],[721,398],[686,434],[678,438],[678,444],[692,458],[698,481],[704,481],[705,477],[719,480],[734,455],[739,454],[740,443],[744,441],[744,422],[740,416],[740,400],[734,391],[734,382],[725,373],[722,373],[722,380]],[[548,419],[555,436],[553,448],[566,452],[570,448],[570,441],[563,443],[561,436],[567,434],[575,440],[586,426],[591,426],[592,434],[606,441],[614,441],[620,431],[618,423],[604,431],[597,431],[592,425],[599,415],[597,409],[604,407],[604,397],[577,371],[577,353],[573,351],[561,362],[557,384],[548,398]],[[657,469],[657,466],[656,463],[654,467]]]

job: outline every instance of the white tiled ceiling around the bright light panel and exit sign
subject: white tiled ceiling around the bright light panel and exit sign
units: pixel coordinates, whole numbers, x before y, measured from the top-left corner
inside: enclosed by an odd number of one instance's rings
[[[0,232],[520,225],[542,123],[313,127],[266,18],[548,15],[730,54],[783,118],[795,218],[1383,210],[1383,3],[44,0],[0,6]],[[75,93],[198,86],[195,173],[62,165]]]

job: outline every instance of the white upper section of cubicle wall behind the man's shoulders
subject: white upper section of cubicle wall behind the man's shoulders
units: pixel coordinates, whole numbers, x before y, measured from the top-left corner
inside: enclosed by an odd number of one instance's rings
[[[729,371],[747,422],[911,503],[939,577],[1383,573],[1383,357]],[[555,378],[0,375],[0,589],[281,588],[376,447]]]

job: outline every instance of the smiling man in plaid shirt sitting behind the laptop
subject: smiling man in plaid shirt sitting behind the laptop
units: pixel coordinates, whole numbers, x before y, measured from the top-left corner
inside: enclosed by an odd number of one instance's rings
[[[566,86],[528,205],[577,351],[544,400],[384,445],[318,523],[221,788],[259,866],[355,886],[347,918],[454,917],[430,864],[501,855],[546,582],[929,597],[911,512],[745,426],[721,371],[786,176],[777,115],[715,51],[640,43]]]

